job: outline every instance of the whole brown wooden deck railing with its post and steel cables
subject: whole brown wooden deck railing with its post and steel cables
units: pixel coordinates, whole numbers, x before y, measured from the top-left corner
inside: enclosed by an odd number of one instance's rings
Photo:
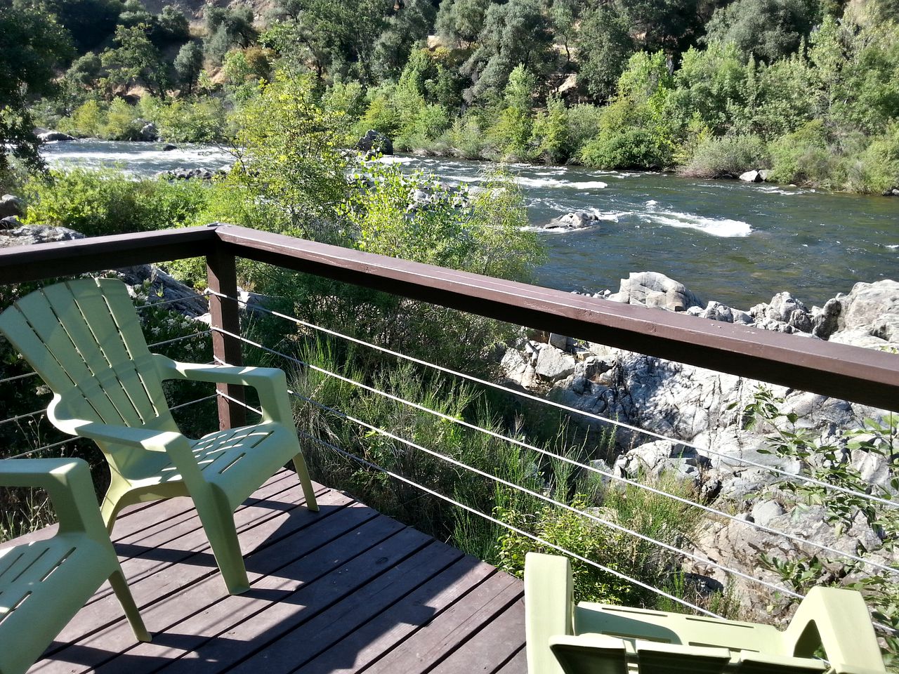
[[[362,386],[369,388],[375,394],[387,395],[387,397],[398,404],[411,405],[421,412],[445,417],[445,421],[460,423],[470,426],[473,430],[491,433],[498,439],[516,444],[527,451],[547,454],[545,449],[530,445],[521,439],[498,435],[491,430],[478,429],[467,423],[467,421],[458,420],[441,414],[441,412],[427,409],[414,401],[404,400],[387,392],[371,389],[363,383],[352,381],[335,372],[316,368],[316,366],[296,359],[290,354],[272,349],[270,345],[248,339],[241,333],[240,327],[242,303],[237,297],[236,260],[245,258],[264,262],[289,270],[392,293],[401,297],[423,300],[433,305],[446,306],[476,315],[484,315],[512,324],[524,325],[547,332],[562,333],[574,339],[599,342],[610,347],[637,351],[646,355],[714,369],[739,377],[749,377],[767,381],[771,384],[868,404],[886,410],[899,411],[899,356],[895,354],[860,349],[828,341],[802,339],[793,335],[771,333],[743,325],[702,320],[689,315],[673,314],[657,309],[621,305],[608,300],[582,297],[558,290],[538,288],[527,284],[494,279],[462,271],[447,270],[416,262],[405,262],[382,255],[360,253],[332,245],[317,244],[284,235],[275,235],[223,224],[137,235],[103,236],[58,244],[38,244],[0,250],[0,283],[17,283],[108,270],[112,266],[111,260],[115,261],[115,267],[121,268],[135,264],[164,262],[200,256],[204,256],[207,261],[209,313],[211,318],[209,332],[211,333],[213,354],[216,361],[240,365],[242,364],[242,350],[245,347],[263,350],[288,362],[293,362],[306,368],[319,369],[328,377],[342,378],[346,383],[353,386]],[[311,330],[324,330],[325,333],[329,333],[331,336],[339,339],[358,341],[348,335],[325,330],[313,324],[307,324],[294,316],[278,314],[258,306],[255,307],[255,310],[270,315],[277,315],[283,320],[295,322]],[[365,344],[365,346],[384,350],[377,345]],[[572,414],[601,419],[590,412],[583,412],[565,407],[565,405],[538,399],[536,396],[526,392],[505,389],[503,386],[492,382],[481,381],[465,373],[441,366],[434,366],[431,363],[412,359],[403,354],[391,353],[398,358],[416,360],[421,365],[436,368],[449,376],[466,378],[484,386],[500,387],[513,395],[531,398],[533,402],[551,404],[561,407]],[[384,435],[388,439],[403,443],[415,451],[428,453],[433,457],[448,461],[458,468],[483,474],[485,479],[492,479],[509,488],[527,492],[531,497],[539,501],[547,501],[556,508],[574,511],[586,519],[591,519],[596,524],[616,529],[619,533],[640,537],[655,545],[663,547],[667,545],[652,538],[647,538],[645,535],[627,528],[622,523],[611,522],[608,519],[601,518],[596,513],[577,510],[570,504],[558,502],[549,498],[547,494],[529,491],[521,485],[503,483],[501,478],[479,471],[475,467],[461,464],[452,457],[441,456],[431,449],[423,447],[423,445],[397,437],[386,430],[379,429],[377,426],[369,425],[366,421],[357,419],[347,412],[334,410],[317,403],[315,400],[294,392],[291,393],[297,395],[304,403],[324,407],[325,412],[342,416],[347,421],[358,423],[369,429],[371,433]],[[240,387],[220,386],[217,397],[218,421],[222,428],[242,424],[245,421],[246,412],[248,410],[254,411],[252,406],[245,403]],[[205,398],[200,400],[203,399]],[[39,412],[26,412],[4,421],[16,421],[37,413]],[[601,421],[627,426],[627,424],[616,420],[602,418]],[[654,434],[649,433],[649,435]],[[362,457],[352,455],[346,451],[346,448],[328,444],[323,439],[313,438],[312,436],[307,436],[306,439],[310,442],[327,445],[334,452],[355,459],[369,468],[381,468],[381,466],[377,466]],[[64,444],[65,442],[67,441],[56,443],[56,445]],[[684,442],[679,444],[689,446],[688,443]],[[707,454],[715,454],[713,449],[706,448],[703,451]],[[602,474],[607,479],[635,485],[641,489],[649,489],[665,498],[685,501],[680,496],[659,492],[654,490],[653,487],[635,483],[626,477],[612,474],[600,467],[577,462],[566,457],[551,456],[553,459],[569,462],[579,469]],[[752,461],[743,460],[743,463],[750,466],[753,465]],[[790,479],[814,482],[814,480],[810,480],[807,477],[779,471],[778,468],[762,467],[775,473],[782,473]],[[397,480],[409,482],[403,475],[391,473],[390,471],[386,472]],[[431,493],[432,496],[449,501],[464,510],[474,512],[465,503],[461,503],[446,494],[433,492],[421,484],[413,484],[415,487]],[[836,491],[846,491],[837,485],[823,484],[823,486]],[[882,504],[891,508],[896,507],[895,503],[878,499],[871,494],[864,494],[863,496],[872,501],[883,501]],[[877,569],[878,572],[889,574],[899,572],[891,566],[863,558],[858,554],[847,553],[827,545],[808,541],[802,537],[764,527],[754,522],[738,519],[734,517],[733,513],[716,510],[703,503],[695,501],[685,502],[689,503],[690,506],[705,510],[716,518],[739,520],[747,527],[752,526],[760,528],[766,533],[788,537],[794,542],[811,546],[823,553],[838,555],[850,562],[859,563],[861,567]],[[491,513],[476,512],[476,514],[494,521],[495,524],[507,528],[510,527],[508,523],[495,519]],[[534,538],[543,545],[556,547],[556,545],[542,541],[528,532],[523,532],[514,527],[512,529],[516,530],[520,535]],[[793,597],[801,596],[795,590],[761,580],[752,575],[752,573],[741,572],[727,567],[702,555],[692,554],[676,548],[672,548],[672,551],[699,564],[700,567],[714,567],[727,574],[740,576],[746,581],[759,583],[769,590]],[[562,552],[571,554],[565,550]],[[578,557],[576,554],[574,556]],[[591,560],[584,559],[583,561],[592,563],[594,566],[597,565]],[[604,571],[621,575],[609,567],[601,566],[601,568]],[[641,581],[628,577],[626,579],[646,587]],[[672,597],[658,588],[648,589],[660,592],[674,601],[687,603],[688,606],[701,612],[709,613],[708,610],[702,607],[695,607],[680,598]]]

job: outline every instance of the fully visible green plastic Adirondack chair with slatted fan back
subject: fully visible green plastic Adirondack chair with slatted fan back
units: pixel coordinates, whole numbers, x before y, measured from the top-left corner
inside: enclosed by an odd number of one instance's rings
[[[53,391],[49,420],[93,439],[110,466],[102,501],[109,531],[125,506],[190,496],[228,592],[249,589],[234,510],[293,461],[309,510],[318,510],[287,392],[277,368],[178,363],[150,353],[128,289],[116,279],[41,288],[0,315],[0,332]],[[263,418],[200,439],[179,432],[165,379],[253,386]]]

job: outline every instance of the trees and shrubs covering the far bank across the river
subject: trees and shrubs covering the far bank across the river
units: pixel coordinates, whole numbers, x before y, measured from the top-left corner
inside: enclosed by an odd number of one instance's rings
[[[79,137],[233,141],[259,83],[289,67],[312,74],[316,100],[357,137],[376,129],[399,150],[899,186],[890,0],[265,7],[209,7],[191,25],[138,0],[15,0],[0,21],[24,37],[0,58],[38,53],[5,135],[28,145],[33,119]],[[55,89],[41,76],[54,66],[67,68]]]

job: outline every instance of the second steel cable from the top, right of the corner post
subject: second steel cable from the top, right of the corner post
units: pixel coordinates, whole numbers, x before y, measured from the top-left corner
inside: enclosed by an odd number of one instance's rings
[[[240,339],[241,341],[244,341],[245,343],[250,344],[250,345],[252,345],[252,346],[254,346],[254,347],[256,347],[256,348],[266,350],[266,351],[270,352],[270,353],[273,354],[273,355],[279,356],[280,358],[289,359],[290,361],[292,361],[292,362],[294,362],[294,363],[296,363],[296,364],[298,364],[298,365],[302,365],[302,366],[304,366],[304,367],[314,369],[314,370],[316,370],[317,372],[320,372],[321,374],[324,374],[325,376],[328,376],[328,377],[334,377],[334,378],[339,379],[339,380],[341,380],[341,381],[343,381],[343,382],[346,382],[347,384],[350,384],[350,385],[352,385],[352,386],[358,386],[359,388],[361,388],[361,389],[363,389],[363,390],[366,390],[366,391],[369,391],[370,393],[374,393],[374,394],[376,394],[376,395],[382,395],[382,396],[386,397],[386,398],[389,399],[389,400],[395,401],[396,403],[408,405],[409,407],[412,407],[412,408],[414,408],[414,409],[417,409],[417,410],[419,410],[419,411],[421,411],[421,412],[426,412],[426,413],[432,414],[432,415],[434,415],[434,416],[436,416],[436,417],[438,417],[438,418],[443,419],[444,421],[450,421],[450,422],[456,423],[456,424],[458,424],[458,425],[460,425],[460,426],[463,426],[463,427],[465,427],[465,428],[467,428],[467,429],[469,429],[469,430],[475,430],[475,431],[478,431],[478,432],[485,433],[485,434],[487,434],[487,435],[490,435],[490,436],[494,437],[495,439],[500,439],[500,440],[503,440],[503,441],[507,441],[507,442],[512,443],[513,445],[518,446],[518,447],[521,447],[521,448],[524,448],[524,449],[529,449],[529,450],[532,450],[532,451],[539,452],[540,454],[542,454],[542,455],[544,455],[544,456],[547,456],[547,457],[550,457],[550,458],[553,458],[553,459],[556,459],[556,460],[559,460],[559,461],[563,461],[563,462],[565,462],[565,463],[567,463],[567,464],[569,464],[569,465],[576,466],[576,467],[579,467],[579,468],[583,468],[583,469],[585,469],[585,470],[587,470],[587,471],[590,471],[590,472],[592,472],[592,473],[595,473],[595,474],[601,474],[601,475],[603,475],[603,476],[610,477],[610,478],[613,479],[613,480],[619,481],[619,482],[621,482],[621,483],[629,484],[629,485],[631,485],[631,486],[634,486],[634,487],[636,487],[636,488],[638,488],[638,489],[645,490],[645,491],[647,491],[647,492],[652,492],[652,493],[654,493],[654,494],[663,496],[663,497],[665,497],[665,498],[672,499],[673,501],[679,501],[679,502],[684,503],[684,504],[686,504],[686,505],[689,505],[689,506],[691,506],[691,507],[698,508],[699,510],[704,510],[704,511],[710,513],[710,514],[714,514],[714,515],[716,515],[716,516],[718,516],[718,517],[721,517],[721,518],[724,518],[724,519],[729,519],[729,520],[734,521],[734,522],[739,522],[741,525],[744,525],[744,526],[747,526],[747,527],[750,527],[750,528],[755,528],[755,529],[764,531],[764,532],[766,532],[766,533],[769,533],[769,534],[772,534],[772,535],[775,535],[775,536],[785,537],[785,538],[787,538],[787,539],[789,539],[789,540],[792,540],[792,541],[794,541],[794,542],[796,542],[796,543],[798,543],[798,544],[800,544],[800,545],[810,545],[810,546],[815,547],[815,548],[817,548],[817,549],[819,549],[819,550],[822,550],[822,551],[824,551],[824,552],[828,552],[828,553],[831,553],[831,554],[836,554],[836,555],[841,556],[841,557],[843,557],[843,558],[845,558],[845,559],[850,559],[850,560],[852,560],[852,561],[854,561],[854,562],[863,563],[863,564],[865,564],[865,565],[868,566],[868,567],[875,568],[875,569],[879,569],[880,571],[884,571],[884,572],[888,572],[888,573],[894,573],[894,574],[899,574],[899,569],[895,569],[894,567],[887,566],[886,564],[882,564],[882,563],[875,562],[875,561],[873,561],[873,560],[865,559],[864,557],[861,557],[861,556],[859,556],[859,555],[857,555],[857,554],[848,553],[848,552],[845,552],[845,551],[843,551],[843,550],[839,550],[839,549],[837,549],[837,548],[834,548],[834,547],[832,547],[832,546],[830,546],[830,545],[824,545],[824,544],[822,544],[822,543],[817,543],[817,542],[815,542],[815,541],[811,541],[811,540],[808,540],[808,539],[806,539],[806,538],[796,536],[796,535],[794,535],[794,534],[789,534],[788,532],[781,531],[781,530],[779,530],[779,529],[770,528],[770,527],[767,527],[767,526],[765,526],[765,525],[761,525],[761,524],[759,524],[759,523],[757,523],[757,522],[754,522],[754,521],[749,521],[749,520],[747,520],[747,519],[741,519],[741,518],[739,518],[739,517],[737,517],[737,516],[735,516],[735,515],[732,515],[732,514],[730,514],[730,513],[725,512],[724,510],[717,510],[717,509],[712,508],[712,507],[710,507],[710,506],[703,505],[703,504],[701,504],[701,503],[697,503],[696,501],[690,501],[689,499],[685,499],[685,498],[683,498],[683,497],[681,497],[681,496],[677,496],[677,495],[672,494],[672,493],[669,493],[669,492],[664,492],[663,490],[656,489],[656,488],[654,488],[654,487],[652,487],[652,486],[650,486],[650,485],[643,484],[643,483],[638,483],[638,482],[636,482],[636,481],[634,481],[634,480],[630,480],[630,479],[628,479],[628,478],[626,478],[626,477],[622,477],[622,476],[620,476],[620,475],[611,473],[611,472],[609,472],[609,471],[603,471],[603,470],[601,470],[600,468],[597,468],[596,466],[592,466],[592,465],[590,465],[590,464],[582,464],[582,463],[580,463],[580,462],[578,462],[578,461],[575,461],[575,460],[572,459],[572,458],[565,457],[565,456],[561,456],[561,455],[557,455],[557,454],[555,454],[554,452],[550,452],[550,451],[548,451],[547,449],[539,448],[539,447],[537,447],[537,446],[535,446],[535,445],[531,445],[530,443],[523,442],[523,441],[520,440],[520,439],[510,438],[510,437],[508,437],[508,436],[503,435],[502,433],[497,433],[497,432],[494,431],[494,430],[489,430],[489,429],[481,428],[481,427],[477,426],[476,424],[472,424],[472,423],[469,423],[469,422],[464,421],[464,420],[462,420],[462,419],[458,419],[458,418],[453,417],[453,416],[451,416],[451,415],[449,415],[449,414],[444,414],[443,412],[437,412],[437,411],[432,410],[432,409],[430,409],[430,408],[428,408],[428,407],[426,407],[426,406],[424,406],[424,405],[417,404],[417,403],[414,403],[414,402],[405,400],[404,398],[398,397],[398,396],[396,396],[396,395],[388,394],[387,392],[381,391],[381,390],[379,390],[379,389],[377,389],[377,388],[375,388],[375,387],[373,387],[373,386],[368,386],[368,385],[362,384],[362,383],[357,382],[357,381],[355,381],[354,379],[351,379],[351,378],[349,378],[349,377],[343,377],[343,375],[339,375],[339,374],[337,374],[337,373],[331,372],[330,370],[327,370],[327,369],[325,369],[325,368],[319,368],[318,366],[313,365],[313,364],[310,364],[310,363],[308,363],[308,362],[306,362],[306,361],[304,361],[304,360],[302,360],[302,359],[297,359],[297,358],[294,358],[294,357],[292,357],[292,356],[288,356],[287,354],[281,353],[280,351],[272,350],[272,349],[270,349],[270,348],[268,348],[268,347],[265,347],[263,344],[260,344],[260,343],[258,343],[258,342],[254,342],[254,341],[247,340],[245,337],[238,337],[237,335],[234,335],[234,334],[232,334],[232,333],[227,333],[227,331],[221,330],[221,329],[219,329],[219,328],[216,328],[215,330],[217,330],[218,332],[226,333],[226,334],[228,334],[229,336],[235,337],[235,338],[237,338],[237,339]],[[311,400],[310,400],[309,402],[310,402],[310,403],[313,403],[313,404],[317,404],[315,401],[311,401]],[[334,412],[334,411],[332,411],[332,412]],[[352,420],[352,421],[357,421],[357,422],[362,423],[363,425],[365,425],[364,422],[361,422],[361,421],[358,421],[358,420]],[[372,429],[372,430],[375,430],[375,431],[377,432],[376,429]],[[404,441],[404,442],[405,442],[405,440],[401,440],[401,441]],[[425,451],[428,451],[428,450],[425,450]],[[474,469],[472,469],[472,470],[474,470]],[[688,556],[689,556],[689,554],[688,554]],[[716,565],[716,563],[711,562],[711,560],[705,560],[704,563],[710,563],[710,564],[713,565],[713,566]],[[752,576],[750,576],[749,578],[752,578]],[[758,580],[758,579],[756,579],[756,580]],[[780,591],[788,591],[788,590],[783,590],[783,589],[780,589],[780,588],[779,588],[779,590],[780,590]]]

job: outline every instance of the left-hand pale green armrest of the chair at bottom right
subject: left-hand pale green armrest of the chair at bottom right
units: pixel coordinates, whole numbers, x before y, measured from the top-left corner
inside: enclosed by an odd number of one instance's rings
[[[554,636],[574,634],[574,596],[567,557],[528,553],[524,560],[524,625],[528,670],[562,674],[549,648]]]

